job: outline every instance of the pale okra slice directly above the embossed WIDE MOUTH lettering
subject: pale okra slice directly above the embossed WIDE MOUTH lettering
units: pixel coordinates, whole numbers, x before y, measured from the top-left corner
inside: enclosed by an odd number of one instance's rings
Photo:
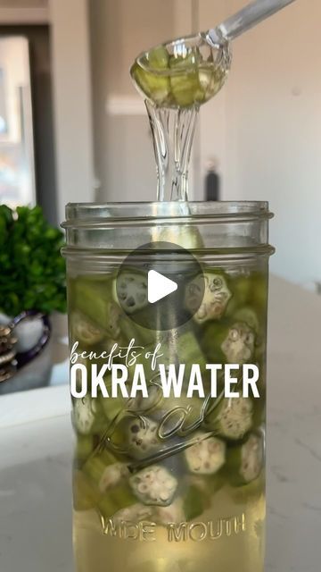
[[[166,507],[177,490],[177,478],[161,465],[151,465],[132,475],[129,484],[139,501]]]

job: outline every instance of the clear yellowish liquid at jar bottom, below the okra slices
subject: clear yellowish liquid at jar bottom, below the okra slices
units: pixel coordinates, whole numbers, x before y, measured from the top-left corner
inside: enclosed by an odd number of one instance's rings
[[[95,510],[74,512],[77,572],[263,572],[264,477],[224,487],[211,508],[189,523],[127,523],[115,535]],[[135,526],[136,525],[136,526]],[[106,526],[106,523],[105,523]],[[132,536],[132,538],[119,538]]]

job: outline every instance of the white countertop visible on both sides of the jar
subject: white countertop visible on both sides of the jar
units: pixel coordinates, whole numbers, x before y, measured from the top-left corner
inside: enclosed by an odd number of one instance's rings
[[[271,280],[267,572],[320,569],[319,324],[321,298]],[[68,389],[21,395],[0,398],[0,570],[71,572]]]

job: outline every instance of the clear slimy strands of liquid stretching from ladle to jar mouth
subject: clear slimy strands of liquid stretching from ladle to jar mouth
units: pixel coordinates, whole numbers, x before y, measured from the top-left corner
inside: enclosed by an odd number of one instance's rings
[[[146,100],[156,159],[157,200],[188,200],[188,167],[199,107],[169,109]]]

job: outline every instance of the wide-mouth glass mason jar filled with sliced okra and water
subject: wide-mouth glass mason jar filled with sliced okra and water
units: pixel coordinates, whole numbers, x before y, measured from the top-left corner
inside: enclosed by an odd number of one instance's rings
[[[67,206],[78,572],[263,572],[271,216],[264,202]],[[157,303],[151,270],[177,283]]]

